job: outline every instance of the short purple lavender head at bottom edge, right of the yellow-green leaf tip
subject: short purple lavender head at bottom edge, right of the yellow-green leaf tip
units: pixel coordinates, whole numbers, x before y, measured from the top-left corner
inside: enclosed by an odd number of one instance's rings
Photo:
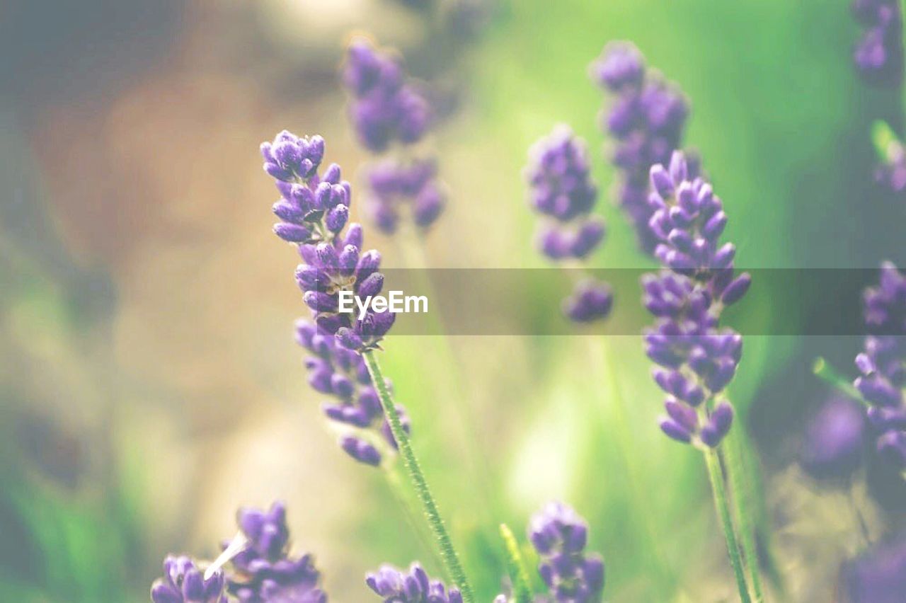
[[[528,538],[541,561],[538,572],[554,601],[593,603],[604,589],[601,557],[585,552],[588,525],[564,503],[548,503],[528,524]]]

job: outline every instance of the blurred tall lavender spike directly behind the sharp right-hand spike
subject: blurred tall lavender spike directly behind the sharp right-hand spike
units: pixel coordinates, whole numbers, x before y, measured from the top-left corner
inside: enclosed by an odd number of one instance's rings
[[[629,42],[608,43],[592,63],[591,77],[612,94],[610,110],[601,113],[601,128],[613,139],[611,162],[622,177],[618,199],[629,217],[639,244],[651,253],[657,238],[648,227],[653,209],[648,204],[649,170],[667,164],[681,146],[689,103],[675,86],[645,65]],[[689,166],[696,172],[696,166]]]

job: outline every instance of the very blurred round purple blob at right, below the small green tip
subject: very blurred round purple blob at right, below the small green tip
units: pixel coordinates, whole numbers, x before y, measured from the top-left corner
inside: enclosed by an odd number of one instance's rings
[[[816,479],[845,480],[862,464],[865,416],[853,400],[834,397],[809,422],[800,455]]]

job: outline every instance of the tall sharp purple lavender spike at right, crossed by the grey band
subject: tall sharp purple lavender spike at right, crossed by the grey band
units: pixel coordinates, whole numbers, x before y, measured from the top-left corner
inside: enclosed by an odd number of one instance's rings
[[[732,244],[720,245],[727,224],[720,198],[701,177],[691,177],[679,151],[670,168],[651,168],[655,256],[660,274],[642,278],[643,303],[656,317],[645,351],[659,365],[654,380],[667,398],[663,432],[679,442],[717,446],[733,422],[720,400],[742,357],[742,336],[719,326],[724,307],[748,291],[747,273],[736,276]]]

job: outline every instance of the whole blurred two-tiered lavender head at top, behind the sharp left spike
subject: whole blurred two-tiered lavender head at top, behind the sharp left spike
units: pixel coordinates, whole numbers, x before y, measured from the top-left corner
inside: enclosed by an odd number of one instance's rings
[[[426,96],[406,77],[397,56],[361,39],[349,46],[342,79],[362,145],[372,153],[399,145],[399,152],[366,169],[374,223],[391,234],[400,214],[408,211],[419,229],[428,228],[443,210],[446,194],[436,160],[419,158],[411,149],[433,123]]]

